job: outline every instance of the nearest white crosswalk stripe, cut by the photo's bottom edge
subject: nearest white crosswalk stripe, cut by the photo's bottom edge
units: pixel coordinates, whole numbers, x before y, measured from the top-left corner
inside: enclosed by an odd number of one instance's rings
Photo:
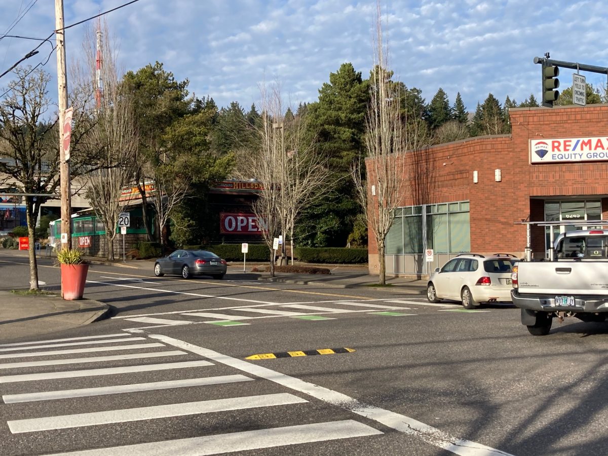
[[[63,456],[206,456],[212,454],[272,448],[283,445],[312,443],[341,438],[380,435],[381,431],[354,420],[328,423],[300,424],[298,426],[272,427],[245,430],[231,434],[207,435],[111,448],[62,453]],[[287,452],[292,453],[292,451]],[[50,456],[60,456],[59,454]]]

